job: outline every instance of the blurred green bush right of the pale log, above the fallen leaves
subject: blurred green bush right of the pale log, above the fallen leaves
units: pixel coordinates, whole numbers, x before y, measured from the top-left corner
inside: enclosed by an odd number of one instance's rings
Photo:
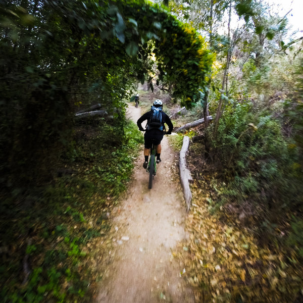
[[[239,204],[249,200],[262,206],[267,215],[300,206],[297,154],[288,144],[279,121],[266,111],[254,112],[249,102],[227,107],[211,151],[228,180],[225,194]]]

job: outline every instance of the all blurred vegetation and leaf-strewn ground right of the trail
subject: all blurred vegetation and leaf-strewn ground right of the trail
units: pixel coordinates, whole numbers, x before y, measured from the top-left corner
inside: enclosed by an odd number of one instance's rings
[[[299,302],[303,37],[265,1],[169,6],[216,53],[201,104],[181,118],[218,118],[188,131],[188,282],[198,301]]]

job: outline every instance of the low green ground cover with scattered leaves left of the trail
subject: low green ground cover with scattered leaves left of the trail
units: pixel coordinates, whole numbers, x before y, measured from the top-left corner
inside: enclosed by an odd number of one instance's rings
[[[78,125],[74,139],[74,160],[64,162],[74,169],[72,175],[3,197],[0,232],[5,259],[0,283],[4,301],[91,301],[89,285],[97,278],[89,267],[93,256],[87,247],[111,228],[108,207],[125,189],[143,139],[131,122],[121,131],[102,120],[99,125]],[[31,240],[25,244],[27,238]],[[99,258],[106,248],[97,249]],[[25,256],[31,270],[26,280]]]

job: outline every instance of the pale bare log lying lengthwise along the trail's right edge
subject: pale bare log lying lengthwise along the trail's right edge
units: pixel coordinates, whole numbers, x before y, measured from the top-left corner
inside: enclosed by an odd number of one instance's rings
[[[183,138],[183,145],[180,151],[180,159],[179,159],[179,170],[180,170],[180,180],[181,185],[183,187],[184,199],[186,202],[186,209],[189,212],[190,204],[191,204],[191,191],[189,188],[189,181],[192,180],[190,171],[186,168],[186,151],[188,150],[189,146],[189,137],[184,136]]]

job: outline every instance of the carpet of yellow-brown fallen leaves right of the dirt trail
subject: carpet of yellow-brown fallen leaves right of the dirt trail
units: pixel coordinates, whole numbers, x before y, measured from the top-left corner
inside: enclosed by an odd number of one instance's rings
[[[303,285],[295,256],[286,256],[278,247],[261,248],[248,229],[211,216],[209,190],[206,182],[193,186],[190,236],[182,245],[188,247],[183,248],[183,262],[197,301],[294,301]]]

